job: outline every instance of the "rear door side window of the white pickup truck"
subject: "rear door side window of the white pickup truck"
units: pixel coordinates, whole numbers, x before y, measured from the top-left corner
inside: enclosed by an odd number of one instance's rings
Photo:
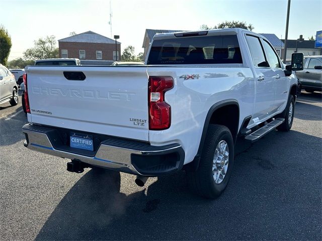
[[[256,67],[268,67],[259,38],[247,35],[246,39],[248,46],[251,50],[254,65]]]

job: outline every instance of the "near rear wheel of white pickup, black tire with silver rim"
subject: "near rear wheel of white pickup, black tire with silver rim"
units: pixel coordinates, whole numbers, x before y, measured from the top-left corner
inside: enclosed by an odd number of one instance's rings
[[[227,187],[234,161],[234,144],[229,129],[209,125],[199,167],[188,172],[192,188],[206,198],[216,198]]]

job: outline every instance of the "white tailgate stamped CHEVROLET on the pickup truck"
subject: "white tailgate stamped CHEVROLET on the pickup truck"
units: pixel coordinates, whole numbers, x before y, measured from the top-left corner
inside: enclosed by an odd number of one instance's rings
[[[145,66],[32,66],[27,76],[32,123],[148,141]]]

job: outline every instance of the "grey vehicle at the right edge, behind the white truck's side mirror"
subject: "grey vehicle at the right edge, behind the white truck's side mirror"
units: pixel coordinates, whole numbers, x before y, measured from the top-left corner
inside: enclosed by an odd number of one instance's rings
[[[295,74],[306,92],[322,91],[322,55],[305,56],[304,69]]]

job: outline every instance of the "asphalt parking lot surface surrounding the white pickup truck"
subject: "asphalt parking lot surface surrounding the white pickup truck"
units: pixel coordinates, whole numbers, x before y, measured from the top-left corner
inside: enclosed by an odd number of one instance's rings
[[[129,174],[69,173],[68,160],[23,146],[21,101],[1,104],[0,239],[321,240],[321,99],[302,92],[290,132],[239,140],[216,200],[192,194],[184,172],[143,188]]]

